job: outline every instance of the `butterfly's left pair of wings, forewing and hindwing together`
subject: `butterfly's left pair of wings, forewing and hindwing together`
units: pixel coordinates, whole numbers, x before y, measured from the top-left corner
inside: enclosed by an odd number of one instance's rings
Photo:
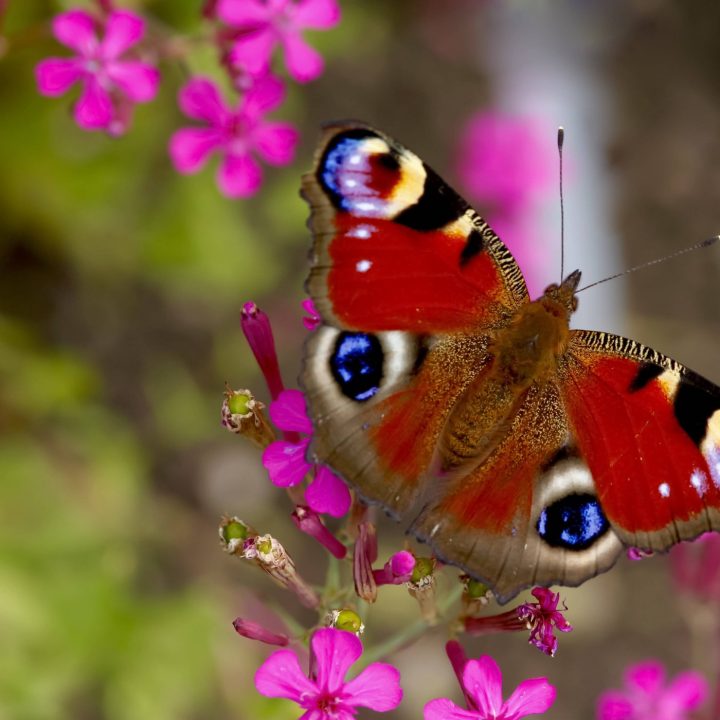
[[[416,155],[360,123],[326,129],[303,178],[322,326],[301,384],[312,452],[402,514],[487,333],[527,302],[512,255]]]

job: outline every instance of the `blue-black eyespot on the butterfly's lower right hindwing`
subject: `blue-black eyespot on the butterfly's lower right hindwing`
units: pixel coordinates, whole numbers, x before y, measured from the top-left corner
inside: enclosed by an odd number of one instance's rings
[[[538,535],[551,547],[586,550],[608,529],[598,499],[589,493],[567,495],[538,518]]]

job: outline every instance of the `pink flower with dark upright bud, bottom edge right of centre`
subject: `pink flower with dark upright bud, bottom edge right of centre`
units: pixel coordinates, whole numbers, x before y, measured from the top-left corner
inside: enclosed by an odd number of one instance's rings
[[[544,713],[555,701],[555,688],[546,678],[524,680],[510,697],[502,699],[502,673],[489,656],[465,661],[459,643],[447,644],[447,653],[461,681],[467,709],[438,698],[425,705],[425,720],[519,720]]]

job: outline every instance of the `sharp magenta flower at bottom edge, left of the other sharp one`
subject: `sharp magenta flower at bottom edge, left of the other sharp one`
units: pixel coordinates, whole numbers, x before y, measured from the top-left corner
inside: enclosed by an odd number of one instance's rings
[[[394,710],[402,700],[400,673],[372,663],[347,682],[345,675],[362,654],[362,643],[345,630],[324,628],[310,641],[310,676],[292,650],[274,652],[255,673],[255,687],[268,697],[296,702],[304,720],[351,720],[358,706],[377,712]]]

